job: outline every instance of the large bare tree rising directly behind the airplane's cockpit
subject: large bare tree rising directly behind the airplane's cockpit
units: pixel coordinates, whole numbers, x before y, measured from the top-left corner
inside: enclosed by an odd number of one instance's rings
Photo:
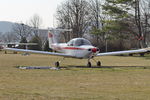
[[[71,37],[82,37],[91,20],[86,0],[68,0],[57,9],[57,20],[62,28],[71,28]]]

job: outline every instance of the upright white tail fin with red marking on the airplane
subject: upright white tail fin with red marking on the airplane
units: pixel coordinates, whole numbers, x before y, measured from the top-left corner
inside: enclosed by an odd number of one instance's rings
[[[49,41],[49,48],[52,48],[52,44],[57,43],[56,36],[51,31],[48,31],[48,41]]]

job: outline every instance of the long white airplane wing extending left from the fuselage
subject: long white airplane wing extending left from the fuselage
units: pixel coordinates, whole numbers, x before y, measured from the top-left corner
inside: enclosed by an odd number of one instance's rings
[[[16,48],[3,48],[3,50],[16,51],[16,52],[27,52],[27,53],[35,53],[35,54],[46,54],[46,55],[53,55],[53,56],[73,57],[71,55],[67,55],[67,54],[63,54],[63,53],[46,52],[46,51],[25,50],[25,49],[16,49]]]

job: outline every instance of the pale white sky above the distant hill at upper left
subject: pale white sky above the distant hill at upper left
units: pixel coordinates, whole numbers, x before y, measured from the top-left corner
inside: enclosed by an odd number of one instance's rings
[[[42,18],[42,28],[55,27],[58,5],[65,0],[0,0],[0,21],[27,23],[34,14]]]

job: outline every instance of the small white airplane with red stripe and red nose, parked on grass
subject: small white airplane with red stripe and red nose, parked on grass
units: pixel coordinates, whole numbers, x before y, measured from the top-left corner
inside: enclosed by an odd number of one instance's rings
[[[45,51],[36,51],[36,50],[25,50],[25,49],[16,49],[16,48],[3,48],[4,50],[11,50],[17,52],[28,52],[28,53],[37,53],[37,54],[47,54],[55,56],[63,56],[64,58],[78,58],[78,59],[87,59],[87,66],[91,67],[90,60],[97,56],[109,56],[109,55],[120,55],[120,54],[134,54],[134,53],[145,53],[149,52],[150,48],[138,49],[138,50],[127,50],[127,51],[116,51],[116,52],[107,52],[100,53],[100,49],[92,46],[90,41],[84,38],[74,38],[68,43],[58,43],[56,41],[56,35],[52,32],[48,32],[49,47],[56,52],[45,52]],[[63,60],[62,59],[62,60]],[[59,67],[60,61],[55,62],[55,66]],[[101,66],[101,62],[97,61],[97,66]]]

